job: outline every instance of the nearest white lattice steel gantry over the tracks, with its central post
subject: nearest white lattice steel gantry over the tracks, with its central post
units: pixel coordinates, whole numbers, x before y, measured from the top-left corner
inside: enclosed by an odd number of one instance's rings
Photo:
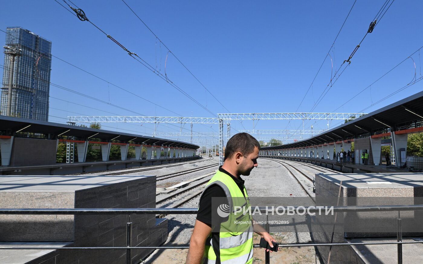
[[[68,116],[69,122],[122,122],[122,123],[190,123],[219,124],[219,163],[223,164],[223,126],[228,126],[226,140],[231,137],[231,121],[243,120],[345,120],[355,119],[365,113],[229,113],[217,114],[217,118],[169,117],[169,116]]]

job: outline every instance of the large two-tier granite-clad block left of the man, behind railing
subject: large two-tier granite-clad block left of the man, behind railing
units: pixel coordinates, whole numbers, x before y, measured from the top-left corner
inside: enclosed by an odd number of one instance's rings
[[[155,208],[156,177],[0,177],[0,200],[4,208]],[[126,263],[126,249],[63,247],[125,247],[129,222],[132,246],[154,247],[168,238],[167,218],[155,214],[1,214],[0,247],[37,249],[0,250],[0,263]],[[138,264],[151,251],[133,249],[131,264]]]

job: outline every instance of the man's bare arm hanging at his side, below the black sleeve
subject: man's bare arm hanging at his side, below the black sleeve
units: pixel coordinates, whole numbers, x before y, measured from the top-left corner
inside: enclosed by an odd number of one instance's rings
[[[206,239],[211,233],[211,226],[201,221],[195,220],[194,231],[190,239],[190,249],[188,250],[186,264],[200,264],[203,261],[204,247]]]

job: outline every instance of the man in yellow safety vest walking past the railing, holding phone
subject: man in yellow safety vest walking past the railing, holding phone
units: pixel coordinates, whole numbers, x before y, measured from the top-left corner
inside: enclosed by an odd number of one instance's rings
[[[250,214],[236,214],[234,209],[250,206],[241,176],[250,175],[257,167],[259,150],[258,141],[247,133],[238,133],[228,140],[225,162],[200,197],[187,264],[250,264],[253,263],[253,231],[269,245],[275,241],[253,222]],[[223,202],[216,203],[216,199]]]

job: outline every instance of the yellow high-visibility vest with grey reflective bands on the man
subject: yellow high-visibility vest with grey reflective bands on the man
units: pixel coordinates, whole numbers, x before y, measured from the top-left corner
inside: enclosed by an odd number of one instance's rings
[[[222,264],[251,264],[253,263],[252,218],[249,213],[234,212],[235,206],[241,206],[242,208],[250,206],[247,190],[243,186],[244,196],[231,176],[219,170],[207,183],[204,191],[213,184],[219,185],[225,191],[229,208],[231,209],[228,220],[220,225],[220,262]],[[203,263],[216,263],[211,234],[206,240]]]

